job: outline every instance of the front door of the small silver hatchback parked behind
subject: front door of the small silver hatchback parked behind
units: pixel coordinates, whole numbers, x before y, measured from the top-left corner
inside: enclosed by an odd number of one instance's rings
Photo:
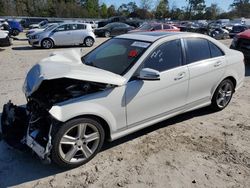
[[[63,24],[51,32],[55,45],[72,45],[74,44],[71,24]]]

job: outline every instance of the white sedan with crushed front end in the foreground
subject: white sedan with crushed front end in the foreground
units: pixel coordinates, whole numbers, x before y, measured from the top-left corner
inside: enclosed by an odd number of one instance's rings
[[[23,87],[27,105],[4,105],[2,134],[13,147],[77,167],[105,139],[204,106],[224,109],[244,73],[242,53],[205,35],[121,35],[83,57],[69,50],[35,65]]]

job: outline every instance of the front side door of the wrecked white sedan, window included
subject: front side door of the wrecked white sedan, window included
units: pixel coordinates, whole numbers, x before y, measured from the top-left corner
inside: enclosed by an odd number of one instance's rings
[[[141,68],[160,72],[160,80],[134,79],[126,87],[127,124],[134,126],[180,111],[186,103],[189,73],[180,40],[155,48]],[[138,74],[139,70],[136,74]]]

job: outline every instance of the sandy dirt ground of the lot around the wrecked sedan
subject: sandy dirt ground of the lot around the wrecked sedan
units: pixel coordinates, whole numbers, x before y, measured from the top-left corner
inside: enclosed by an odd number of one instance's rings
[[[97,39],[95,46],[104,40]],[[32,49],[19,40],[0,50],[0,106],[9,99],[25,103],[22,84],[27,71],[55,50],[65,48]],[[250,66],[244,86],[225,110],[186,113],[106,143],[77,169],[44,165],[0,142],[0,187],[9,186],[250,187]]]

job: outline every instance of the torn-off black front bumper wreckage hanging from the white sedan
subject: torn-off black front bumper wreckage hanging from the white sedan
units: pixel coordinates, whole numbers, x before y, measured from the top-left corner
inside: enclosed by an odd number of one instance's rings
[[[30,148],[41,159],[50,162],[52,123],[43,129],[39,127],[41,119],[34,119],[26,107],[8,102],[3,107],[1,117],[2,137],[10,146],[22,151]]]

